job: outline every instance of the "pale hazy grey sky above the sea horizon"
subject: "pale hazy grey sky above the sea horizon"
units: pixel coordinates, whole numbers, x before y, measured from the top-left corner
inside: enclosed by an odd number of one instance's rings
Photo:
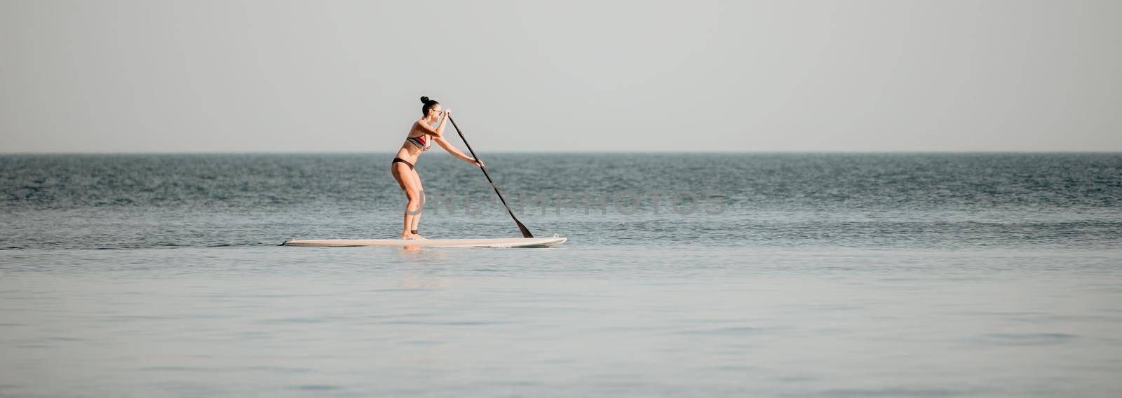
[[[1120,19],[1113,0],[0,0],[0,152],[392,152],[421,95],[477,151],[1122,151]]]

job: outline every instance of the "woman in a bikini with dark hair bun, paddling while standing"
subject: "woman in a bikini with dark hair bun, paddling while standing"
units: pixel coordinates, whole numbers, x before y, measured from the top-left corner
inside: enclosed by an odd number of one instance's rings
[[[424,117],[413,123],[410,133],[405,137],[405,144],[397,151],[397,157],[389,163],[389,174],[397,179],[397,185],[405,191],[408,203],[405,205],[405,229],[402,231],[402,239],[425,239],[417,234],[417,223],[421,222],[421,207],[424,206],[424,188],[421,186],[421,176],[413,165],[417,163],[417,157],[422,151],[429,150],[432,141],[440,144],[452,156],[463,161],[482,167],[482,163],[463,155],[459,149],[448,144],[444,139],[444,120],[452,114],[450,109],[441,109],[440,102],[422,96],[421,114]],[[435,128],[433,127],[435,126]]]

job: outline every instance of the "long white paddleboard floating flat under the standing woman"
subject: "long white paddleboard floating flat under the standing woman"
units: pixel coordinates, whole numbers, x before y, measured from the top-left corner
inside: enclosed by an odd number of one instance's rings
[[[429,247],[429,248],[549,248],[569,238],[496,238],[496,239],[319,239],[289,240],[282,246],[313,247]]]

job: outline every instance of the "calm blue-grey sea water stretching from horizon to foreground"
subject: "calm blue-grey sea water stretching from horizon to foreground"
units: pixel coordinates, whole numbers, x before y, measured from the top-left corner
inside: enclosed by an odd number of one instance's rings
[[[1122,155],[481,155],[0,156],[0,396],[1122,396]]]

